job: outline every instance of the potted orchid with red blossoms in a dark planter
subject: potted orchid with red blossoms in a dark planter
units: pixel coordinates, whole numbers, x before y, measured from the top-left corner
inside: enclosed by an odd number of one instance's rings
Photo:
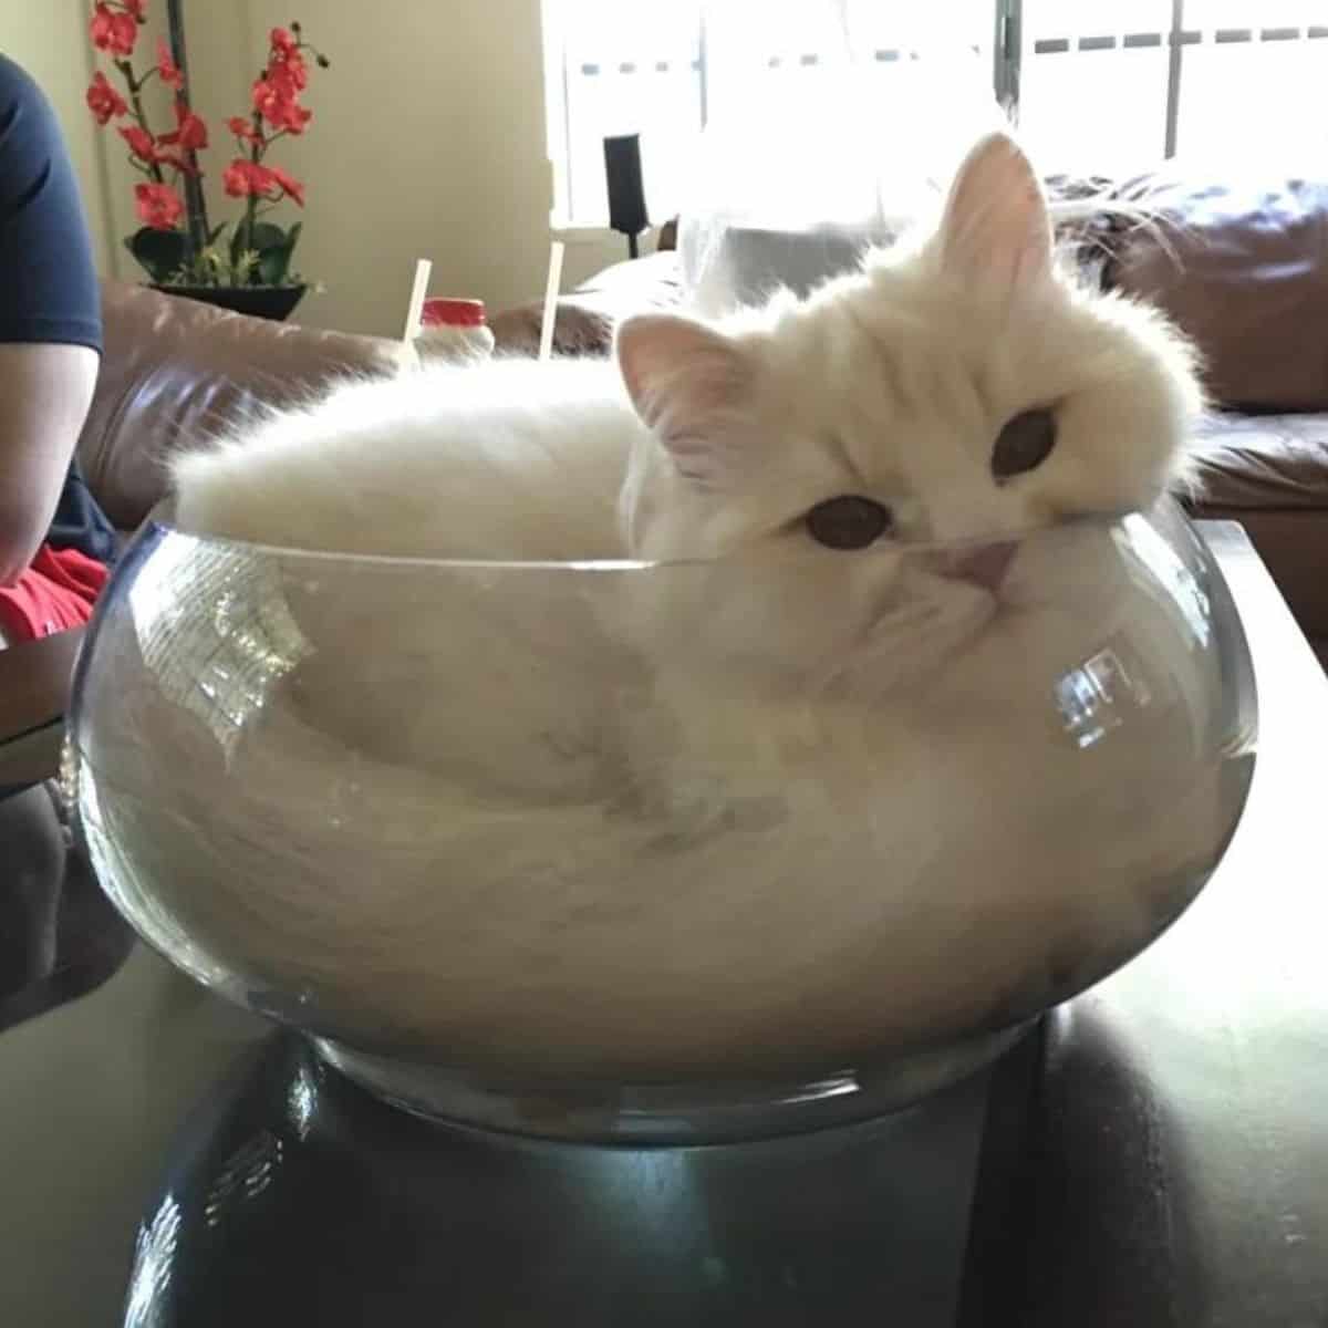
[[[327,57],[304,37],[297,23],[274,28],[267,61],[250,89],[250,108],[226,127],[235,145],[222,170],[222,189],[242,207],[234,220],[208,219],[199,154],[211,134],[190,100],[181,0],[167,0],[170,40],[158,39],[155,61],[138,61],[147,0],[96,0],[93,46],[112,66],[98,69],[88,89],[88,108],[101,126],[116,125],[129,161],[143,179],[134,186],[142,226],[125,247],[158,290],[187,295],[246,313],[284,319],[307,286],[292,258],[301,223],[280,226],[270,214],[291,202],[304,206],[304,185],[268,159],[288,135],[305,131],[312,112],[300,98],[308,86],[309,58],[321,69]],[[157,80],[171,94],[174,127],[154,131],[145,89]]]

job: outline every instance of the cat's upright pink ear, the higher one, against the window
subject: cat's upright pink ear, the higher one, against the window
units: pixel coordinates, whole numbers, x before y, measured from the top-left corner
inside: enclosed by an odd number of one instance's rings
[[[940,223],[942,263],[993,288],[1028,291],[1052,278],[1052,219],[1032,163],[1003,133],[964,158]]]

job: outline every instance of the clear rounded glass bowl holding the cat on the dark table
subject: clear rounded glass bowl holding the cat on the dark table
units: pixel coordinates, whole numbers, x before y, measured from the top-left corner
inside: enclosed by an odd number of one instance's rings
[[[720,1137],[914,1098],[1135,955],[1220,859],[1254,737],[1170,505],[669,564],[157,522],[68,778],[138,932],[378,1093]]]

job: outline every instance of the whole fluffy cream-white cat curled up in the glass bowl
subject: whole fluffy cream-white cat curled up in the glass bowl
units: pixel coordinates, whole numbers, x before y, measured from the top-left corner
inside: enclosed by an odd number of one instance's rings
[[[1080,519],[1150,507],[1199,404],[1159,316],[1057,270],[997,134],[934,231],[803,303],[183,457],[186,531],[669,566],[291,560],[286,704],[224,770],[169,740],[211,829],[155,888],[251,985],[459,1064],[762,1070],[999,1023],[1137,944],[1230,822],[1193,586]]]

